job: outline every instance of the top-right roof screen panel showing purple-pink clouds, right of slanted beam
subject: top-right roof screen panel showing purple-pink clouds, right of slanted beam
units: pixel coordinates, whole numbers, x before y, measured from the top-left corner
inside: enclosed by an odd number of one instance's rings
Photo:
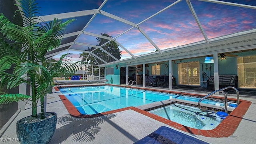
[[[208,38],[216,38],[256,27],[255,9],[202,1],[191,2]],[[254,3],[256,2],[254,1]]]

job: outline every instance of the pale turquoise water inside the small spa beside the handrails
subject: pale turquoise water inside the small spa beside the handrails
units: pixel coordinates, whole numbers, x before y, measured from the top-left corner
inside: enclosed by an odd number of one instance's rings
[[[149,112],[184,126],[200,130],[212,130],[222,121],[216,114],[202,112],[199,108],[183,104],[172,104]]]

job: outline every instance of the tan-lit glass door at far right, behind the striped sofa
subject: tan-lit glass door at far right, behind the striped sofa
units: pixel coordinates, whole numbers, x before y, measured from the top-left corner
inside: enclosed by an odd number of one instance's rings
[[[256,88],[256,56],[237,58],[238,87]]]

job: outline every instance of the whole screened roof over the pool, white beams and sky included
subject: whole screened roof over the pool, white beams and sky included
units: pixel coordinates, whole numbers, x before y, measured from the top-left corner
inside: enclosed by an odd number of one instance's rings
[[[63,21],[76,19],[67,27],[60,47],[48,52],[46,58],[70,50],[77,50],[79,53],[91,52],[96,55],[96,51],[88,51],[88,47],[98,47],[96,38],[101,35],[100,33],[112,36],[111,40],[116,41],[122,53],[120,60],[123,60],[194,42],[210,44],[208,39],[256,28],[254,0],[36,2],[41,7],[40,13],[46,22],[54,16]],[[110,53],[107,49],[105,51]],[[99,56],[97,59],[105,62],[113,60],[107,60],[107,57],[102,57],[102,60],[100,58]]]

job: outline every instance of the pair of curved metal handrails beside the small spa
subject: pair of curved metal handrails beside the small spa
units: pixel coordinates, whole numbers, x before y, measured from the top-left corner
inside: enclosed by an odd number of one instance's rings
[[[222,89],[220,89],[220,90],[215,90],[214,92],[212,92],[212,93],[210,93],[210,94],[204,96],[203,98],[201,98],[201,99],[198,101],[198,107],[200,108],[200,110],[202,110],[202,111],[210,111],[210,110],[204,110],[204,109],[202,109],[200,104],[201,104],[202,100],[204,100],[204,99],[208,98],[209,96],[211,96],[211,98],[212,98],[213,101],[215,101],[215,102],[220,102],[220,103],[224,103],[224,104],[225,104],[225,113],[228,113],[228,98],[227,98],[227,94],[226,94],[226,92],[224,92],[224,90],[229,89],[229,88],[234,89],[234,90],[236,91],[236,102],[237,102],[237,104],[239,104],[239,92],[238,92],[238,90],[237,90],[236,88],[232,87],[232,86],[227,86],[227,87],[222,88]],[[219,100],[215,100],[215,99],[213,98],[213,95],[214,95],[216,92],[222,92],[222,93],[224,94],[224,102],[219,101]],[[210,111],[210,112],[212,112],[212,111]]]

